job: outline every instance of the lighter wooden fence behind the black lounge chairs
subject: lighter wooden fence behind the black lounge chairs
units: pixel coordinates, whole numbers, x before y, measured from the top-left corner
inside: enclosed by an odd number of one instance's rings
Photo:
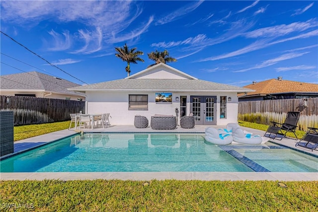
[[[269,125],[283,123],[288,111],[300,111],[298,127],[318,128],[318,98],[239,102],[239,120]]]

